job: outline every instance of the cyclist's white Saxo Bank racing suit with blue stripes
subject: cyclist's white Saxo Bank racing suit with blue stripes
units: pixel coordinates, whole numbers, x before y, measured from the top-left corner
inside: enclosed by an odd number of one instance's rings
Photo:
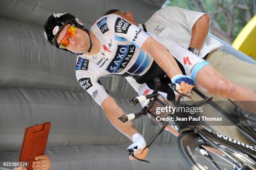
[[[182,56],[186,57],[184,62],[188,63],[188,66],[185,70],[189,76],[192,75],[189,72],[194,69],[190,62],[196,64],[194,67],[197,67],[203,61],[174,41],[146,33],[119,15],[110,14],[101,17],[90,30],[100,41],[100,52],[95,55],[78,55],[75,70],[79,84],[99,105],[110,96],[98,81],[102,76],[127,77],[133,88],[137,92],[139,91],[142,85],[136,83],[131,77],[145,74],[153,62],[153,58],[141,50],[141,46],[150,35],[160,43],[164,43],[170,53],[179,61],[182,61]],[[187,57],[190,58],[190,61]]]

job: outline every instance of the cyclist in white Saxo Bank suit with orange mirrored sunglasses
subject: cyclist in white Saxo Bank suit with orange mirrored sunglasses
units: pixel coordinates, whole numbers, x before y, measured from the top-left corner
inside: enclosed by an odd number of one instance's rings
[[[146,142],[132,122],[121,123],[117,119],[124,112],[100,84],[99,77],[133,77],[128,81],[138,91],[140,84],[158,76],[164,81],[172,79],[173,83],[180,84],[181,93],[191,90],[196,82],[212,93],[226,98],[256,100],[253,91],[226,80],[209,63],[191,51],[174,41],[151,34],[164,42],[165,47],[119,15],[110,14],[99,18],[89,31],[73,15],[54,13],[44,25],[44,34],[55,47],[78,54],[75,69],[79,84],[102,107],[110,122],[133,141],[128,149],[138,149],[137,157],[140,159],[148,152],[147,149],[143,150]],[[186,56],[189,61],[187,66],[183,68],[173,56]],[[197,64],[189,64],[190,62]],[[182,75],[179,67],[186,76]],[[174,98],[172,92],[168,94],[169,98]]]

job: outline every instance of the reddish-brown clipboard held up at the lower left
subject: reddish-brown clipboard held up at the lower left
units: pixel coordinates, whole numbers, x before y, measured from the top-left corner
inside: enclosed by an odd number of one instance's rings
[[[20,148],[20,162],[28,162],[27,170],[32,169],[35,157],[44,155],[51,123],[46,122],[25,129],[23,142]]]

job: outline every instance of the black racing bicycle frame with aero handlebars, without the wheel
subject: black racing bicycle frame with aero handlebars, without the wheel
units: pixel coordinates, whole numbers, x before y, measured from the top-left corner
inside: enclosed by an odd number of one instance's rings
[[[154,117],[156,119],[156,114],[152,113],[150,111],[150,108],[154,105],[154,103],[156,101],[158,101],[160,104],[162,104],[163,106],[166,106],[166,104],[161,101],[160,99],[158,99],[157,93],[158,93],[158,89],[160,86],[159,80],[154,80],[155,84],[156,84],[156,88],[154,89],[154,92],[152,94],[146,95],[144,96],[145,99],[149,99],[148,102],[148,106],[144,107],[142,109],[141,112],[138,112],[137,114],[134,114],[133,119],[137,119],[138,117],[142,117],[144,115],[146,115],[147,113],[150,114],[152,117]],[[173,88],[173,87],[172,87]],[[202,104],[209,104],[208,101],[212,101],[212,97],[211,98],[206,98],[205,95],[203,95],[200,91],[198,91],[197,89],[194,89],[194,91],[199,94],[203,100],[199,101],[195,104],[193,104],[194,106],[200,106]],[[153,98],[153,99],[151,99]],[[178,103],[179,100],[181,98],[179,97],[178,99]],[[136,103],[138,103],[138,99],[134,98],[133,100],[130,101],[131,104],[135,105]],[[222,109],[218,104],[216,104],[215,102],[210,102],[210,105],[212,107],[214,107],[218,112],[220,112],[221,114],[223,114],[225,117],[227,117],[225,114],[225,110]],[[175,114],[173,114],[175,116]],[[168,115],[167,115],[168,116]],[[166,116],[166,117],[167,117]],[[228,118],[228,117],[227,117]],[[120,117],[119,119],[121,119],[121,121],[126,122],[128,121],[127,116],[123,115],[122,117]],[[168,121],[159,121],[163,124],[163,126],[159,129],[159,131],[154,135],[154,137],[151,138],[151,140],[148,142],[148,145],[146,147],[150,147],[150,145],[152,144],[152,142],[154,142],[154,140],[156,139],[156,137],[159,136],[159,134],[161,134],[161,132],[164,130],[164,128],[167,125],[170,126],[177,126],[177,124],[170,124]],[[233,122],[232,122],[233,123]],[[235,124],[234,124],[235,125]],[[238,127],[239,128],[239,127]],[[216,149],[220,150],[221,152],[223,152],[230,160],[233,160],[233,162],[235,162],[237,165],[241,165],[239,162],[241,162],[241,160],[237,159],[236,157],[234,157],[232,154],[230,154],[229,152],[227,152],[226,150],[223,150],[222,148],[220,148],[218,145],[216,145],[215,143],[213,143],[211,140],[214,139],[215,141],[219,142],[219,144],[221,145],[225,145],[228,146],[228,148],[230,148],[233,151],[236,152],[242,152],[242,153],[246,153],[246,154],[252,154],[252,155],[256,155],[256,147],[255,146],[251,146],[251,145],[247,145],[244,144],[242,142],[239,142],[237,140],[233,140],[230,137],[225,137],[222,134],[219,134],[217,132],[214,132],[210,129],[207,129],[206,127],[202,127],[202,126],[191,126],[189,124],[187,124],[187,122],[183,122],[182,124],[178,124],[178,129],[179,129],[179,133],[183,133],[183,132],[193,132],[196,135],[199,135],[203,140],[205,140],[206,142],[208,142],[210,145],[212,145],[213,147],[215,147]],[[239,128],[242,132],[244,131],[242,128]],[[246,134],[246,136],[249,137],[249,139],[251,139],[254,144],[256,143],[256,140],[253,136],[251,136],[250,134],[248,134],[247,132],[243,132],[244,134]],[[131,152],[128,152],[129,155],[131,154]],[[133,155],[134,157],[134,155]],[[136,157],[135,157],[136,158]],[[136,158],[137,159],[137,158]],[[139,160],[139,159],[137,159]],[[142,160],[145,161],[145,160]],[[255,159],[254,159],[255,161]],[[148,162],[148,161],[145,161]]]

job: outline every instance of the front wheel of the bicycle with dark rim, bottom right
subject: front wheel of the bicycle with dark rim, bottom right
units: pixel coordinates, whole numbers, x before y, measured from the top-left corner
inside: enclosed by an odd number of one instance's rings
[[[215,142],[216,143],[216,142]],[[217,144],[217,143],[216,143]],[[228,157],[215,150],[207,142],[203,141],[198,134],[182,133],[178,136],[176,142],[177,148],[185,163],[193,170],[255,170],[254,165],[251,168],[239,168],[233,164]],[[218,145],[218,144],[217,144]],[[225,146],[224,146],[225,148]],[[231,154],[237,153],[228,150]],[[244,154],[241,154],[244,157]]]

